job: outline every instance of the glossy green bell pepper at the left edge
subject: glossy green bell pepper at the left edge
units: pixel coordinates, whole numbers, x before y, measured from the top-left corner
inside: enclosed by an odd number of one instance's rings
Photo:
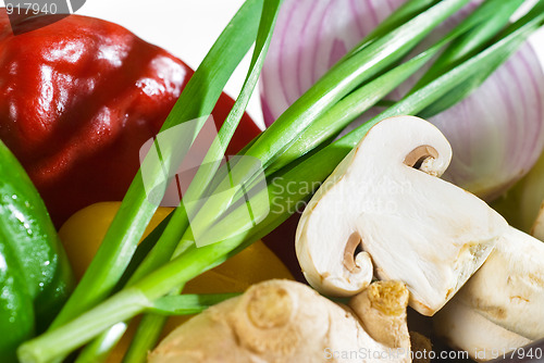
[[[0,141],[0,360],[44,331],[72,291],[74,277],[36,188]]]

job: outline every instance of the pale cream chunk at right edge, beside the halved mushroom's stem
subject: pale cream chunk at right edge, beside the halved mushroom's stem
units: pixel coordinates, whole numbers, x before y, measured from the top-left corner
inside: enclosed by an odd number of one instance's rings
[[[449,304],[463,304],[527,339],[544,338],[544,243],[509,227],[487,261]],[[462,330],[477,328],[478,323],[467,321]]]

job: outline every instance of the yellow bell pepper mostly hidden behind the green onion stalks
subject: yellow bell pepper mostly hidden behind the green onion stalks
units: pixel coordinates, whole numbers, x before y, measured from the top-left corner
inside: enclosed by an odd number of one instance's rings
[[[108,227],[121,202],[102,202],[87,206],[71,216],[61,227],[59,236],[77,278],[95,256]],[[165,218],[171,208],[159,208],[153,215],[144,238]],[[271,278],[293,279],[287,267],[262,241],[257,241],[240,253],[228,259],[222,265],[187,283],[185,293],[243,292],[250,285]],[[172,316],[163,330],[163,336],[190,316]],[[132,324],[108,358],[108,363],[121,362],[126,351],[135,326]]]

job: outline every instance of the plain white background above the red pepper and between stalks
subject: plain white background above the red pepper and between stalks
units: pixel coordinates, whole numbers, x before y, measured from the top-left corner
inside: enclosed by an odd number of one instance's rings
[[[319,1],[319,0],[316,0]],[[243,0],[87,0],[78,14],[118,23],[140,38],[162,47],[196,68],[228,23]],[[3,1],[2,1],[3,3]],[[544,30],[533,36],[544,64]],[[238,66],[226,92],[238,93],[244,82],[249,54]],[[248,113],[261,127],[260,99],[255,92]]]

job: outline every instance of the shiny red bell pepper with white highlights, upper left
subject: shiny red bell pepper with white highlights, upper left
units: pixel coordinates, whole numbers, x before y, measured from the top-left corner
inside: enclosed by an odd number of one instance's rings
[[[14,36],[2,9],[0,139],[58,227],[86,205],[124,197],[139,148],[159,132],[193,73],[165,50],[92,17],[71,15]],[[233,103],[223,93],[215,124]],[[228,153],[259,133],[248,115],[238,129]]]

